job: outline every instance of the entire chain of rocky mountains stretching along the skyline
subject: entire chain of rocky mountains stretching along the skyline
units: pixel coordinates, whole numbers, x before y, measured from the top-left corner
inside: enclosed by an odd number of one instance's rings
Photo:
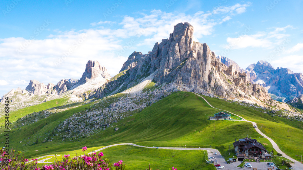
[[[206,43],[194,42],[193,30],[189,23],[175,25],[169,38],[155,43],[148,54],[132,53],[114,77],[97,61],[89,60],[79,80],[62,79],[56,85],[31,80],[24,90],[13,89],[3,98],[10,96],[16,104],[37,104],[63,97],[75,102],[140,92],[147,82],[165,85],[166,91],[193,91],[261,105],[277,104],[271,97],[286,102],[301,94],[301,73],[273,69],[264,61],[241,69],[227,57],[216,57]]]

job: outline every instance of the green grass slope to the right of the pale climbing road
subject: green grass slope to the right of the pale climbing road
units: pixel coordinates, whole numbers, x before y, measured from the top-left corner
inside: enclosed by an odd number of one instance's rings
[[[230,111],[247,120],[257,123],[258,128],[278,144],[288,156],[299,161],[296,155],[303,154],[303,122],[271,116],[264,110],[225,102],[217,98],[204,96],[208,102],[219,109]]]

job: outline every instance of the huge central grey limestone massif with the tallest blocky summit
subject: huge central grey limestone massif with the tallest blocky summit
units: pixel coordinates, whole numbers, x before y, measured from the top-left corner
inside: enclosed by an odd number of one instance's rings
[[[96,97],[102,98],[122,86],[131,87],[154,73],[156,82],[172,83],[178,89],[207,91],[231,99],[271,99],[264,87],[249,82],[248,73],[221,63],[206,43],[194,42],[193,30],[191,24],[179,23],[169,39],[155,43],[148,54],[132,53],[120,73],[96,90]]]

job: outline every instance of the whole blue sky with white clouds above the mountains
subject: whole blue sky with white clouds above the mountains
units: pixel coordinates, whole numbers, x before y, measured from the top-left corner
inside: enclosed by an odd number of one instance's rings
[[[189,22],[195,41],[242,68],[265,60],[303,72],[303,1],[0,1],[0,95],[36,79],[79,79],[88,60],[114,76]]]

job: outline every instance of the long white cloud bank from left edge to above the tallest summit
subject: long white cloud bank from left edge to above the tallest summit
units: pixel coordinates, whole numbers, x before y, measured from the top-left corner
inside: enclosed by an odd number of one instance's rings
[[[192,24],[197,41],[205,35],[213,34],[216,25],[231,19],[229,15],[240,14],[248,6],[248,3],[236,4],[218,7],[214,11],[198,11],[192,15],[152,10],[136,17],[122,16],[121,22],[100,20],[91,23],[90,29],[55,29],[41,40],[23,37],[0,39],[1,71],[5,75],[1,78],[0,85],[12,86],[5,88],[25,88],[32,79],[44,84],[57,83],[64,78],[79,79],[88,60],[98,60],[114,76],[138,46],[152,48],[156,42],[169,38],[176,24]],[[226,17],[222,18],[222,15]],[[135,43],[128,46],[131,39],[135,39]],[[121,52],[123,48],[127,50]],[[0,93],[4,94],[6,90],[0,90]]]

